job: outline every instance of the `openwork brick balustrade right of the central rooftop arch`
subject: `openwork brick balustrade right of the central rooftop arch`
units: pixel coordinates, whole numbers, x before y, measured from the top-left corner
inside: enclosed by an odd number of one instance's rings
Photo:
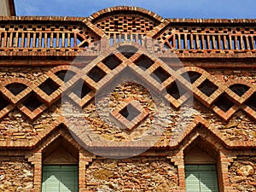
[[[249,28],[206,26],[206,27],[166,27],[158,40],[164,42],[167,49],[201,50],[204,52],[246,51],[255,49],[254,26]]]

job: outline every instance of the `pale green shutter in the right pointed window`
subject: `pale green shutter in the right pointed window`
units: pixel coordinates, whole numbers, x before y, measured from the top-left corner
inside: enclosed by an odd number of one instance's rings
[[[215,165],[185,165],[187,192],[218,192]]]

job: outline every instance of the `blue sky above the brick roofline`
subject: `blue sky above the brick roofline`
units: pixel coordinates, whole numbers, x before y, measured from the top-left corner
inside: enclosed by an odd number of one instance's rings
[[[165,18],[256,18],[255,0],[15,0],[17,15],[89,16],[130,5]]]

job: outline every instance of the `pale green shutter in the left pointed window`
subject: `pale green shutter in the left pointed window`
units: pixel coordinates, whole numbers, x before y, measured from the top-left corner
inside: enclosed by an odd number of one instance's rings
[[[43,166],[42,192],[77,192],[78,166]]]

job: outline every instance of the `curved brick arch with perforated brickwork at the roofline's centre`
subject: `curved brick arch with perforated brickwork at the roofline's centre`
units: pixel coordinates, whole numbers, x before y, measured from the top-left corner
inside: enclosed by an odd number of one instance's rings
[[[88,20],[102,32],[112,36],[117,32],[144,35],[152,31],[155,26],[160,26],[165,19],[147,9],[118,6],[102,9],[90,15]]]

